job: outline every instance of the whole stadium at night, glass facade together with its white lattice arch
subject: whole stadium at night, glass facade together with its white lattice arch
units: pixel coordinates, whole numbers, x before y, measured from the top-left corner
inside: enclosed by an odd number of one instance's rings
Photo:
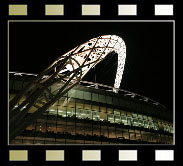
[[[118,56],[114,86],[82,81],[107,56]],[[126,45],[93,38],[38,75],[9,73],[10,144],[172,144],[173,114],[147,97],[119,89]]]

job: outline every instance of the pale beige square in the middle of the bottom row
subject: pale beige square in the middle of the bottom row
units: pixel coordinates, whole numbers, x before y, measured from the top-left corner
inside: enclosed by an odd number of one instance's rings
[[[100,161],[101,151],[100,150],[83,150],[82,160],[83,161]]]

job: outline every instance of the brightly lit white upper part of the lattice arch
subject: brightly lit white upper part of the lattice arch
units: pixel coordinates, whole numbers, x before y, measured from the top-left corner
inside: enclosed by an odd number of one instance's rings
[[[92,67],[98,64],[112,51],[118,54],[118,67],[114,88],[119,88],[125,65],[126,45],[123,39],[116,35],[103,35],[93,38],[62,55],[58,61],[66,56],[71,56],[72,59],[69,60],[65,69],[60,71],[60,74],[67,70],[75,70],[79,66],[84,65],[85,67],[82,68],[83,74],[81,76],[83,77]]]

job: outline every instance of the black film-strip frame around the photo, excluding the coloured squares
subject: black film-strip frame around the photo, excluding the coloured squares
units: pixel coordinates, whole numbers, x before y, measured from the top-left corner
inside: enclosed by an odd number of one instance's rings
[[[8,16],[8,3],[20,3],[24,4],[27,3],[29,5],[29,15],[26,17],[11,17]],[[44,4],[49,3],[64,3],[65,4],[65,16],[63,17],[45,17],[44,16]],[[82,3],[100,3],[101,4],[101,16],[97,17],[81,17],[81,4]],[[117,4],[137,4],[138,5],[138,16],[117,16]],[[154,4],[174,4],[174,16],[154,16]],[[0,143],[1,143],[1,149],[0,149],[0,163],[1,165],[138,165],[138,166],[147,166],[147,165],[158,165],[158,166],[169,166],[169,165],[181,165],[182,163],[182,111],[181,109],[176,109],[175,114],[175,145],[123,145],[123,146],[9,146],[7,143],[7,97],[8,97],[8,91],[7,91],[7,80],[8,80],[8,58],[7,58],[7,20],[12,19],[112,19],[112,20],[176,20],[176,27],[177,23],[180,21],[180,18],[178,19],[177,14],[177,2],[174,0],[113,0],[107,2],[106,0],[52,0],[51,2],[49,0],[20,0],[20,1],[14,1],[9,0],[6,2],[5,5],[2,5],[0,7],[3,7],[3,10],[5,11],[2,14],[2,19],[0,22],[1,28],[1,55],[0,56],[0,123],[1,123],[1,136],[0,136]],[[1,10],[1,11],[3,11]],[[179,13],[180,14],[180,13]],[[180,25],[178,25],[179,27]],[[177,29],[177,28],[176,28]],[[166,30],[166,29],[165,29]],[[179,38],[181,31],[176,31],[176,37]],[[93,37],[93,36],[92,36]],[[124,38],[124,36],[122,36]],[[178,41],[176,38],[176,41]],[[85,42],[85,41],[84,41]],[[126,41],[125,41],[126,42]],[[78,44],[78,43],[77,43]],[[177,49],[177,47],[176,47]],[[53,50],[52,50],[53,51]],[[180,50],[179,50],[180,51]],[[53,52],[52,52],[53,53]],[[56,52],[57,53],[57,52]],[[177,52],[176,52],[177,53]],[[134,62],[135,63],[135,62]],[[136,63],[135,63],[136,64]],[[126,67],[125,67],[126,72]],[[131,75],[128,74],[130,77]],[[124,73],[125,77],[125,73]],[[127,79],[129,80],[129,78]],[[124,88],[124,83],[121,85],[121,88]],[[133,90],[133,89],[132,89]],[[172,89],[171,89],[172,90]],[[135,89],[133,90],[134,92]],[[139,92],[140,93],[140,92]],[[141,94],[141,93],[140,93]],[[145,95],[145,94],[144,94]],[[147,97],[150,97],[149,95],[146,95]],[[158,99],[157,99],[158,100]],[[164,103],[162,101],[162,103]],[[164,103],[166,104],[166,103]],[[176,105],[178,104],[178,101],[176,100]],[[168,105],[167,105],[168,106]],[[169,107],[169,106],[168,106]],[[172,104],[170,104],[170,107],[172,107]],[[170,108],[169,107],[169,108]],[[177,108],[177,107],[176,107]],[[10,149],[26,149],[29,151],[29,161],[28,162],[9,162],[8,161],[8,152]],[[45,162],[45,150],[46,149],[64,149],[65,150],[65,161],[64,162]],[[82,162],[81,161],[81,151],[82,149],[101,149],[102,150],[102,161],[101,162]],[[123,149],[135,149],[138,150],[138,161],[137,162],[119,162],[118,161],[118,150]],[[174,150],[174,161],[172,162],[156,162],[154,159],[155,156],[155,150],[156,149],[168,149],[168,150]]]

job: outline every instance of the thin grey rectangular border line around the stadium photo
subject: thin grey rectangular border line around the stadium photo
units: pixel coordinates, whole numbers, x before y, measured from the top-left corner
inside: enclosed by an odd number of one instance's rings
[[[172,22],[173,23],[173,144],[10,144],[9,143],[9,27],[11,22]],[[175,20],[7,20],[7,146],[175,146]]]

